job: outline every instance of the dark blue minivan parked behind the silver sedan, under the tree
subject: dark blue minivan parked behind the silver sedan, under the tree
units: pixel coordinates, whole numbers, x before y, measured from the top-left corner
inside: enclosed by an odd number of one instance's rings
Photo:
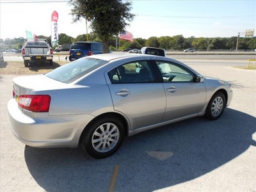
[[[102,54],[102,43],[99,42],[74,42],[70,46],[69,61],[74,61],[92,54]]]

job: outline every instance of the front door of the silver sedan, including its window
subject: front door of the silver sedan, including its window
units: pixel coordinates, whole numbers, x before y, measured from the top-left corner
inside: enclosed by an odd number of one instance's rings
[[[166,92],[163,121],[198,114],[205,106],[204,83],[196,83],[195,74],[178,63],[157,61]]]

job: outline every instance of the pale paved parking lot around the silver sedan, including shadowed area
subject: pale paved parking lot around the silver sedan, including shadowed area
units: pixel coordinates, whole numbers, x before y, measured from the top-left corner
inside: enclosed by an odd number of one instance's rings
[[[232,83],[234,97],[223,116],[142,132],[106,159],[80,148],[33,148],[17,141],[6,111],[15,75],[1,74],[0,190],[256,191],[256,70],[203,62],[186,63]]]

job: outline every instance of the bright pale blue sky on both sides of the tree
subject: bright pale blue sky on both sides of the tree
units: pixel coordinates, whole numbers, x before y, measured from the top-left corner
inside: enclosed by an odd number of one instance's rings
[[[59,13],[58,33],[76,37],[86,33],[85,20],[72,23],[72,8],[61,3],[21,3],[32,0],[0,0],[0,38],[26,38],[26,30],[51,35],[51,13]],[[34,2],[49,0],[35,0]],[[61,0],[56,0],[61,1]],[[65,1],[65,0],[64,0]],[[19,2],[19,3],[15,3]],[[127,31],[134,38],[150,36],[230,37],[256,30],[256,0],[132,1],[136,15]],[[91,29],[88,28],[90,33]],[[256,31],[254,33],[256,36]]]

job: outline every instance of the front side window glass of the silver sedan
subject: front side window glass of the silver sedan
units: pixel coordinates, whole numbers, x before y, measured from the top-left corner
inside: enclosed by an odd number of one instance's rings
[[[177,63],[157,61],[164,82],[192,82],[194,74],[188,68],[182,67]]]

